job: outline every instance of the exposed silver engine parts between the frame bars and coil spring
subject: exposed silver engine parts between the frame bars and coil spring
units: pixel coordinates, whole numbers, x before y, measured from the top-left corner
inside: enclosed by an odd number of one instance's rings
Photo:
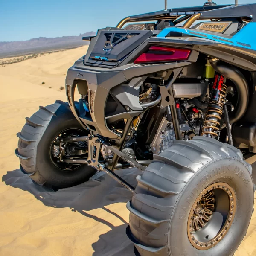
[[[154,88],[155,84],[152,84],[147,99],[151,99],[152,94],[155,94]],[[207,104],[202,104],[198,99],[200,98],[204,102],[209,99],[208,80],[174,83],[172,88],[182,140],[192,140],[194,136],[200,135],[202,131],[205,116],[202,109],[207,108]],[[165,112],[166,114],[160,121],[157,133],[149,145],[149,150],[154,154],[160,154],[171,147],[175,140],[170,106],[166,107]]]

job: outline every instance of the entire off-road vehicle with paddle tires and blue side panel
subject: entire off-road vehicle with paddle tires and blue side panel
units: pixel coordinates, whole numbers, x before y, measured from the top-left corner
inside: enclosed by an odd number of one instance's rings
[[[256,4],[209,1],[83,38],[67,103],[40,107],[17,134],[21,171],[52,189],[113,177],[133,192],[137,255],[233,255],[253,212],[255,18]],[[136,188],[114,172],[129,167]]]

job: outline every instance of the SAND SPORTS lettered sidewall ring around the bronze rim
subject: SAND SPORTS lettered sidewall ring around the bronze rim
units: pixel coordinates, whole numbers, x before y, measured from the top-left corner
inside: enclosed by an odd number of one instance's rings
[[[198,195],[216,182],[230,185],[236,194],[236,214],[226,236],[208,250],[192,246],[187,234],[189,212]],[[241,160],[218,159],[210,162],[189,180],[175,204],[169,224],[169,254],[183,256],[233,255],[241,243],[253,212],[254,190],[250,172]]]

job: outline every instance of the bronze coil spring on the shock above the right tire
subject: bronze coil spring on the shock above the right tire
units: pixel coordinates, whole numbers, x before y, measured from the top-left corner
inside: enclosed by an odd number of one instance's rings
[[[201,135],[207,135],[208,137],[218,136],[216,132],[219,131],[219,128],[217,126],[220,125],[219,121],[221,120],[226,99],[226,91],[227,86],[222,84],[218,102],[209,102]]]

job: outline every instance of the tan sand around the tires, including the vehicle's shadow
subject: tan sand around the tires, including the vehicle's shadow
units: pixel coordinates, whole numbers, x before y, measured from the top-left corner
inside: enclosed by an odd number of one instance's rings
[[[39,105],[66,100],[58,91],[64,86],[64,74],[85,51],[80,47],[0,67],[0,256],[134,255],[125,234],[129,221],[125,205],[131,192],[105,173],[53,192],[23,175],[14,154],[24,118]],[[140,172],[126,169],[118,174],[135,186]],[[256,255],[255,239],[256,212],[235,255]]]

